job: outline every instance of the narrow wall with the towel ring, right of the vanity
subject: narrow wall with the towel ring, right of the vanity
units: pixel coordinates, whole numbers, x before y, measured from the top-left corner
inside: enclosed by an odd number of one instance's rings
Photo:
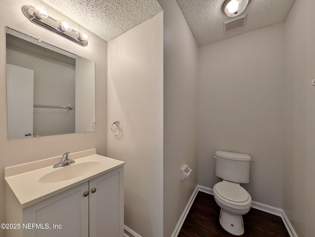
[[[107,127],[107,155],[126,162],[125,225],[163,236],[163,12],[108,42]]]

